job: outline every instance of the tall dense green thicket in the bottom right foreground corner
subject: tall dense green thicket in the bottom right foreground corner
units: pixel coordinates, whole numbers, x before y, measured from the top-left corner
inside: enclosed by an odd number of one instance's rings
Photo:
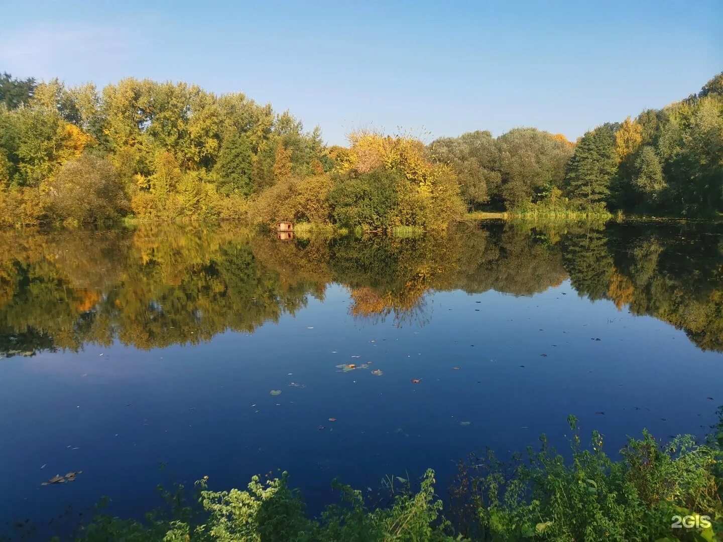
[[[596,431],[583,449],[576,418],[568,420],[571,461],[549,449],[543,435],[542,448],[528,449],[526,459],[515,454],[505,464],[488,451],[461,463],[453,494],[466,533],[495,541],[715,539],[723,528],[719,444],[696,444],[685,435],[661,447],[643,431],[614,461]],[[711,528],[688,535],[671,528],[673,515],[696,513],[711,517]]]

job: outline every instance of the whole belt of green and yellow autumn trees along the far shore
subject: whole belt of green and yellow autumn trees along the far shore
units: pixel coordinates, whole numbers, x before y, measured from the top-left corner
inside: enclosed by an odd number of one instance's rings
[[[719,216],[723,73],[576,143],[515,128],[430,145],[359,131],[348,147],[241,93],[0,75],[0,225],[243,219],[439,230],[474,210]]]

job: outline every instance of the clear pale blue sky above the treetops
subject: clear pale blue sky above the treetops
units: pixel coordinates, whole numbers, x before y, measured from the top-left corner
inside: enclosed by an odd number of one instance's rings
[[[0,71],[242,91],[332,144],[365,126],[576,139],[723,71],[723,0],[0,0]]]

